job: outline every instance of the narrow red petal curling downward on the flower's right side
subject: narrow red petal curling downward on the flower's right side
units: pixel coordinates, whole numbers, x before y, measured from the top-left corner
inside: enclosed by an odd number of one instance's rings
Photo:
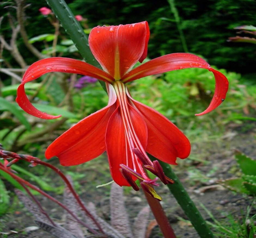
[[[209,107],[204,112],[196,114],[196,116],[211,112],[224,101],[228,91],[228,80],[225,75],[213,69],[205,60],[196,55],[174,53],[158,57],[131,70],[124,75],[121,81],[126,83],[149,75],[186,68],[203,68],[214,73],[216,82],[214,97]]]

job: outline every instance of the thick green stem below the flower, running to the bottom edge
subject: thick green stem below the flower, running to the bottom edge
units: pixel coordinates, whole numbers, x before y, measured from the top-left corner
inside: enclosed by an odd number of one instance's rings
[[[161,161],[159,161],[159,163],[163,168],[164,174],[174,180],[174,184],[167,184],[167,186],[187,215],[188,219],[191,221],[199,236],[201,238],[214,238],[212,231],[206,224],[200,212],[197,210],[194,202],[189,197],[178,177],[173,172],[171,166]]]

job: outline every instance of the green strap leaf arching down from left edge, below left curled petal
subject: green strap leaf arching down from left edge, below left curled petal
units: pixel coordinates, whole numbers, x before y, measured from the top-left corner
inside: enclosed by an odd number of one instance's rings
[[[13,113],[13,115],[19,119],[19,121],[26,127],[27,130],[31,129],[29,122],[25,116],[23,116],[23,112],[20,112],[20,108],[17,104],[12,104],[4,98],[0,97],[0,110]]]

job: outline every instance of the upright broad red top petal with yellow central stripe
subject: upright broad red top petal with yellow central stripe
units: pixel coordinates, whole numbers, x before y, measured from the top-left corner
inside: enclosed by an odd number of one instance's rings
[[[120,79],[138,60],[147,56],[149,27],[147,21],[94,27],[89,35],[90,49],[102,68]]]

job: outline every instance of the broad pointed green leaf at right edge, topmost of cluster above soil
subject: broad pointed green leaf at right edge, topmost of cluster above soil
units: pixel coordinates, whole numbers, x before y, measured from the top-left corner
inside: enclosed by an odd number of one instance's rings
[[[247,157],[241,152],[237,152],[236,155],[237,163],[244,174],[256,175],[256,161]]]

